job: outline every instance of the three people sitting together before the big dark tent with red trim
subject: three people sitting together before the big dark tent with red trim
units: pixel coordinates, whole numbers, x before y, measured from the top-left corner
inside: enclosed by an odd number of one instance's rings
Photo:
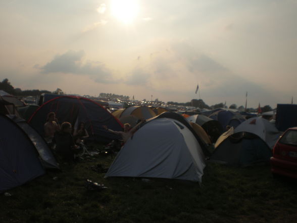
[[[84,122],[81,122],[72,134],[70,122],[63,122],[60,125],[55,112],[48,113],[44,124],[44,138],[51,146],[56,144],[56,151],[63,159],[73,161],[79,151],[78,145],[88,137]]]

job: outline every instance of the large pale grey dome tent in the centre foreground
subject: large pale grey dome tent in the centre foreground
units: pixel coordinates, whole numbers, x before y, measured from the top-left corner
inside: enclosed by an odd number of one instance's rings
[[[146,122],[120,150],[106,176],[201,182],[205,157],[193,133],[175,119]]]

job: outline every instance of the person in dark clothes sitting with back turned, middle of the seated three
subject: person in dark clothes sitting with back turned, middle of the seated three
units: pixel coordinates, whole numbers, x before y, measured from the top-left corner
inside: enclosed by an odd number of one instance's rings
[[[75,151],[79,148],[74,142],[71,131],[71,124],[63,122],[61,130],[55,133],[57,154],[67,161],[74,161]]]

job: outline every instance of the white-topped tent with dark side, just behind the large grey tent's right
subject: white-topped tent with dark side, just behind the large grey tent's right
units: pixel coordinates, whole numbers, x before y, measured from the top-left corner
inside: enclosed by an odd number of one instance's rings
[[[205,115],[192,115],[187,117],[187,120],[203,127],[206,133],[211,137],[213,143],[217,141],[223,132],[223,127],[219,121],[209,118]]]

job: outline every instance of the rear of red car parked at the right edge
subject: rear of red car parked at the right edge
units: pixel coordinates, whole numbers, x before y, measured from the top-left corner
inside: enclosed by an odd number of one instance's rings
[[[288,128],[278,139],[270,163],[273,175],[297,179],[297,127]]]

